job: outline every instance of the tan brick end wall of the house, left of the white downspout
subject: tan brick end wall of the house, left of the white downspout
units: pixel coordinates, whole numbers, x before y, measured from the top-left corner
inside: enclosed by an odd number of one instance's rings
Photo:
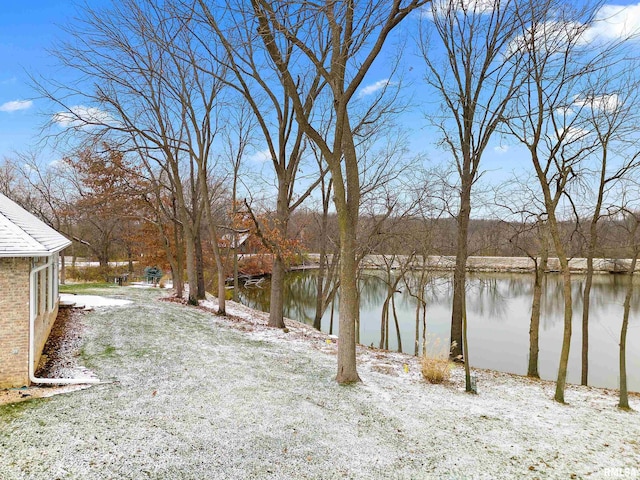
[[[28,258],[0,258],[0,388],[29,384]]]

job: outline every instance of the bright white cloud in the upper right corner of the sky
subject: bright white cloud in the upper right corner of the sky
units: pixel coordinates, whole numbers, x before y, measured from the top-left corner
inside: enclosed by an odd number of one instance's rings
[[[594,23],[583,35],[584,42],[624,39],[640,33],[640,3],[634,5],[603,5]]]

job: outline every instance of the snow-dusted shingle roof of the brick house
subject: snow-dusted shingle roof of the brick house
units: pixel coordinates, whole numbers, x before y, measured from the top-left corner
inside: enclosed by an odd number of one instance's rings
[[[0,257],[38,257],[71,242],[0,193]]]

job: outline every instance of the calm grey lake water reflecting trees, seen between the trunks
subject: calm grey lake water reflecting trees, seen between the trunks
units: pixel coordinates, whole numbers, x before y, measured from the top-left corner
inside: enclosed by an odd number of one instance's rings
[[[386,285],[380,272],[368,271],[360,281],[360,342],[378,346],[382,304]],[[529,320],[533,292],[533,274],[469,274],[467,293],[468,341],[471,366],[520,375],[527,373]],[[636,280],[640,281],[640,278]],[[596,275],[591,291],[589,384],[618,388],[618,343],[622,324],[624,275]],[[285,285],[285,316],[313,323],[315,312],[314,271],[290,272]],[[584,277],[573,276],[573,337],[569,358],[568,382],[580,383],[582,330],[581,292]],[[269,310],[269,282],[260,287],[242,288],[240,300],[247,306]],[[427,287],[427,332],[448,342],[451,323],[452,275],[437,272]],[[395,294],[403,350],[414,352],[415,299],[401,282]],[[561,278],[548,274],[545,279],[540,318],[539,372],[544,379],[555,380],[560,358],[563,329]],[[322,330],[329,330],[330,308],[322,319]],[[627,375],[630,391],[640,391],[640,282],[635,287],[627,333]],[[393,320],[391,320],[393,322]],[[391,323],[389,348],[397,350],[395,327]],[[338,308],[334,313],[333,333],[338,333]]]

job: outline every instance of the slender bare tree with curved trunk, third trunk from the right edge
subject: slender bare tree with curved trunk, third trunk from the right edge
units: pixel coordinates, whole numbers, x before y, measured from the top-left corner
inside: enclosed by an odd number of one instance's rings
[[[590,6],[579,10],[563,2],[530,0],[523,8],[526,11],[517,22],[521,34],[511,46],[522,57],[523,81],[505,125],[531,155],[548,233],[560,263],[564,330],[554,398],[564,402],[573,309],[567,243],[559,216],[563,200],[574,210],[569,189],[579,180],[581,162],[594,148],[581,115],[585,105],[575,99],[587,73],[604,68],[602,60],[611,51],[603,48],[594,54],[583,41],[595,12]]]

